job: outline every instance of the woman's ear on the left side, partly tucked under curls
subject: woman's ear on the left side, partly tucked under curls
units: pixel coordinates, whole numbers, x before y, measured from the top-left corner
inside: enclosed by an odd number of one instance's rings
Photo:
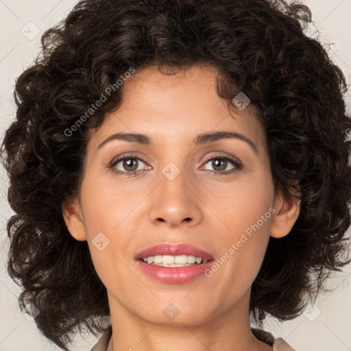
[[[77,199],[66,200],[62,203],[62,215],[67,229],[77,241],[86,240],[86,231],[82,220],[80,204]]]

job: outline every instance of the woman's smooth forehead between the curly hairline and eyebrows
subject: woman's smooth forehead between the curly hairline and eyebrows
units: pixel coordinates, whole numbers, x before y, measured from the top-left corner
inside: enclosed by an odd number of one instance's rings
[[[147,134],[152,143],[184,145],[203,132],[240,132],[265,149],[265,133],[254,106],[228,110],[228,102],[217,94],[217,71],[202,64],[173,75],[150,66],[123,83],[119,108],[108,114],[93,134],[95,149],[114,132]]]

